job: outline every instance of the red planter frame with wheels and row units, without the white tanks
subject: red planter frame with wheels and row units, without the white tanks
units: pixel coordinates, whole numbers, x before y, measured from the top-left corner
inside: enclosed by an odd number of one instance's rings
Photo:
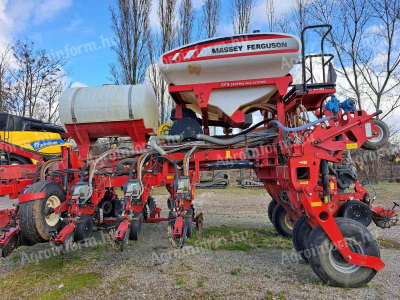
[[[322,57],[325,66],[330,61],[324,62],[327,55],[322,48],[321,55],[312,57]],[[312,57],[303,55],[303,65]],[[121,123],[116,126],[118,134],[132,137],[133,150],[114,146],[87,158],[93,124],[79,124],[67,128],[79,152],[63,147],[59,159],[39,162],[35,169],[27,167],[27,176],[14,170],[25,166],[1,166],[2,192],[19,193],[15,209],[0,211],[2,255],[9,255],[20,244],[48,240],[55,253],[65,253],[74,242],[90,237],[93,224],[107,223],[115,223],[110,231],[114,249],[122,251],[129,239],[137,240],[142,222],[159,221],[168,221],[171,244],[182,247],[191,235],[192,222],[202,226],[202,215],[195,215],[193,207],[200,171],[244,166],[256,172],[271,195],[268,212],[277,231],[287,235],[284,224],[294,223],[290,228],[294,246],[322,280],[350,287],[368,282],[384,263],[364,224],[373,218],[376,225],[390,227],[397,216],[393,209],[372,206],[373,198],[349,168],[333,170],[328,162],[340,163],[346,149],[381,146],[387,139],[387,127],[373,119],[379,112],[357,110],[351,100],[340,103],[334,96],[334,83],[314,83],[305,77],[303,67],[300,85],[292,85],[290,75],[170,85],[176,102],[175,128],[170,134],[153,135],[148,141],[152,132],[142,122]],[[323,77],[328,81],[324,71]],[[248,127],[239,109],[218,121],[208,120],[210,92],[268,85],[277,91],[268,105],[253,109],[262,112],[264,120],[257,124],[262,127],[252,126],[236,135],[207,135],[208,125],[217,122],[224,127]],[[202,112],[200,122],[195,116],[187,117],[187,103],[180,92],[194,93]],[[303,109],[317,120],[307,119]],[[190,125],[193,120],[202,124],[200,131]],[[101,125],[110,132],[116,124]],[[123,128],[126,134],[121,134]],[[7,175],[10,172],[15,178]],[[165,186],[170,193],[168,217],[160,217],[161,209],[151,197],[154,186]],[[120,198],[116,187],[122,187]],[[350,204],[366,207],[370,214],[343,215],[343,206]],[[283,219],[278,216],[278,205]]]

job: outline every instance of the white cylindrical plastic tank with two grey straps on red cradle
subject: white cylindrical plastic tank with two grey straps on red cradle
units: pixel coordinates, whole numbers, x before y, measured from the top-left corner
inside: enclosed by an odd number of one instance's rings
[[[58,110],[63,126],[143,119],[146,128],[155,129],[158,122],[157,100],[148,84],[67,88],[61,95]]]

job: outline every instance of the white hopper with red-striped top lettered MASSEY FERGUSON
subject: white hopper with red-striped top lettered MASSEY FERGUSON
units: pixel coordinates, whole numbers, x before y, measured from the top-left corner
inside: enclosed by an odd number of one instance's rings
[[[182,85],[232,80],[281,77],[289,73],[301,51],[300,40],[286,33],[248,33],[190,43],[161,55],[159,69],[168,84]],[[275,85],[212,90],[209,119],[253,103],[265,103],[276,92]],[[181,92],[187,108],[200,113],[192,92]]]

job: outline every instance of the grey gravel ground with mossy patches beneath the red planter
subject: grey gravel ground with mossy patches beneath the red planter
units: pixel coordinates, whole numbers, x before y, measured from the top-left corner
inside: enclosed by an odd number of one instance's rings
[[[164,215],[166,198],[167,195],[155,196]],[[388,205],[393,200],[388,193],[379,202]],[[269,195],[262,191],[232,188],[224,192],[198,190],[193,203],[201,208],[205,227],[228,225],[246,230],[272,226],[266,214],[269,201]],[[36,264],[27,258],[42,253],[48,248],[47,244],[21,247],[0,261],[0,293],[5,299],[40,296],[47,299],[400,298],[399,249],[381,248],[386,267],[367,285],[356,289],[336,288],[320,282],[305,262],[288,261],[287,257],[296,255],[293,249],[214,251],[190,246],[173,249],[166,236],[166,226],[165,222],[144,224],[141,239],[130,241],[123,253],[111,250],[104,242],[63,257],[53,257],[49,264],[45,259]],[[372,224],[369,228],[376,236],[395,236],[400,241],[399,226],[382,230]],[[100,232],[96,232],[95,237],[101,242]],[[62,270],[54,271],[52,268],[56,268],[60,260]],[[43,279],[40,276],[45,272],[53,273]],[[96,280],[75,288],[76,284],[68,285],[65,279],[69,272],[71,278],[92,272]],[[15,278],[19,278],[18,283],[10,288]]]

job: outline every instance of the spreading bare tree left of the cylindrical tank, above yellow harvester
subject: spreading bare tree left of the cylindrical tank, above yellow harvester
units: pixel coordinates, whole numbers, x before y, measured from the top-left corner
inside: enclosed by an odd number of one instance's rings
[[[50,57],[45,50],[35,50],[34,43],[17,40],[12,46],[15,72],[10,91],[11,110],[17,115],[40,117],[45,92],[65,81],[70,74],[63,67],[64,58]]]

